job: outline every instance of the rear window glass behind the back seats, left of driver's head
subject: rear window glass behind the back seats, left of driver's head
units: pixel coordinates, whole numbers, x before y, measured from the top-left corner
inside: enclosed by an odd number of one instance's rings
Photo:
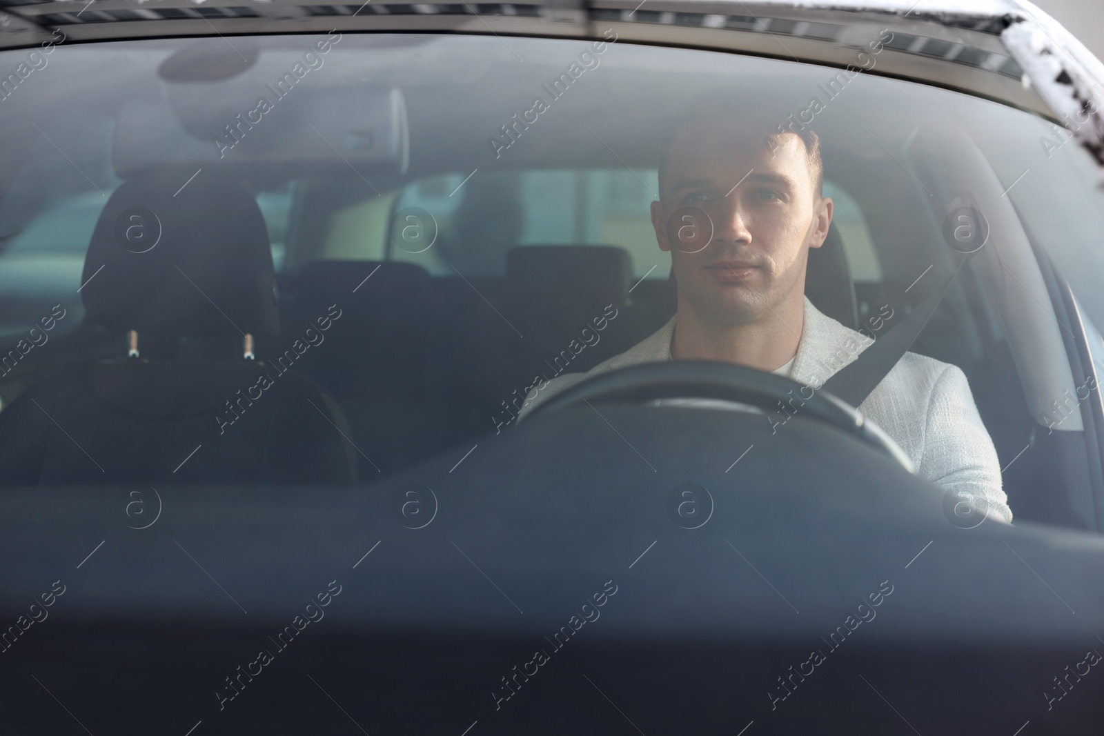
[[[431,274],[502,276],[506,254],[526,245],[615,245],[634,271],[666,278],[670,257],[659,250],[649,204],[655,170],[540,170],[455,173],[408,184],[392,217],[388,257]],[[424,214],[427,213],[428,218]],[[426,220],[425,223],[422,221]],[[423,227],[436,236],[427,245]],[[408,235],[406,237],[405,235]]]

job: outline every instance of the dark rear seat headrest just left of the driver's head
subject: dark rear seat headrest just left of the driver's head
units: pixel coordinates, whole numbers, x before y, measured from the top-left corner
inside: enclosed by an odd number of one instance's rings
[[[633,260],[627,250],[613,245],[526,245],[507,254],[506,277],[533,297],[562,301],[585,295],[625,303]]]

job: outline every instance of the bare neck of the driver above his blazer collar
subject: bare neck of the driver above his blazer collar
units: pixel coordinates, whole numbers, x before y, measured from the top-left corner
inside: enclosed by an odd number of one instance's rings
[[[805,299],[788,299],[757,320],[718,324],[703,320],[679,295],[678,322],[671,341],[675,360],[722,361],[774,371],[797,353],[805,324]]]

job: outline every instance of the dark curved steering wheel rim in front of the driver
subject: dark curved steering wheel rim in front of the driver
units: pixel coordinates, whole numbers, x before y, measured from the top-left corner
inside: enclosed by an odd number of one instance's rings
[[[805,393],[802,393],[802,392]],[[566,388],[542,404],[529,418],[563,412],[591,402],[644,403],[660,398],[712,398],[735,402],[764,413],[777,412],[779,402],[797,398],[795,416],[830,425],[877,448],[915,474],[909,456],[883,429],[863,419],[853,407],[824,390],[813,388],[773,373],[713,361],[644,363],[602,373]]]

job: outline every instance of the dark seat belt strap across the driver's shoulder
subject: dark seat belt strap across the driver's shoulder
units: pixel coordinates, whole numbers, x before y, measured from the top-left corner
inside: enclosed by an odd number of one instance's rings
[[[955,268],[955,273],[932,291],[911,314],[884,335],[877,338],[874,344],[859,353],[854,361],[825,381],[821,387],[851,406],[857,407],[862,404],[923,332],[955,277],[958,276],[958,271],[968,259],[969,255],[964,257]]]

